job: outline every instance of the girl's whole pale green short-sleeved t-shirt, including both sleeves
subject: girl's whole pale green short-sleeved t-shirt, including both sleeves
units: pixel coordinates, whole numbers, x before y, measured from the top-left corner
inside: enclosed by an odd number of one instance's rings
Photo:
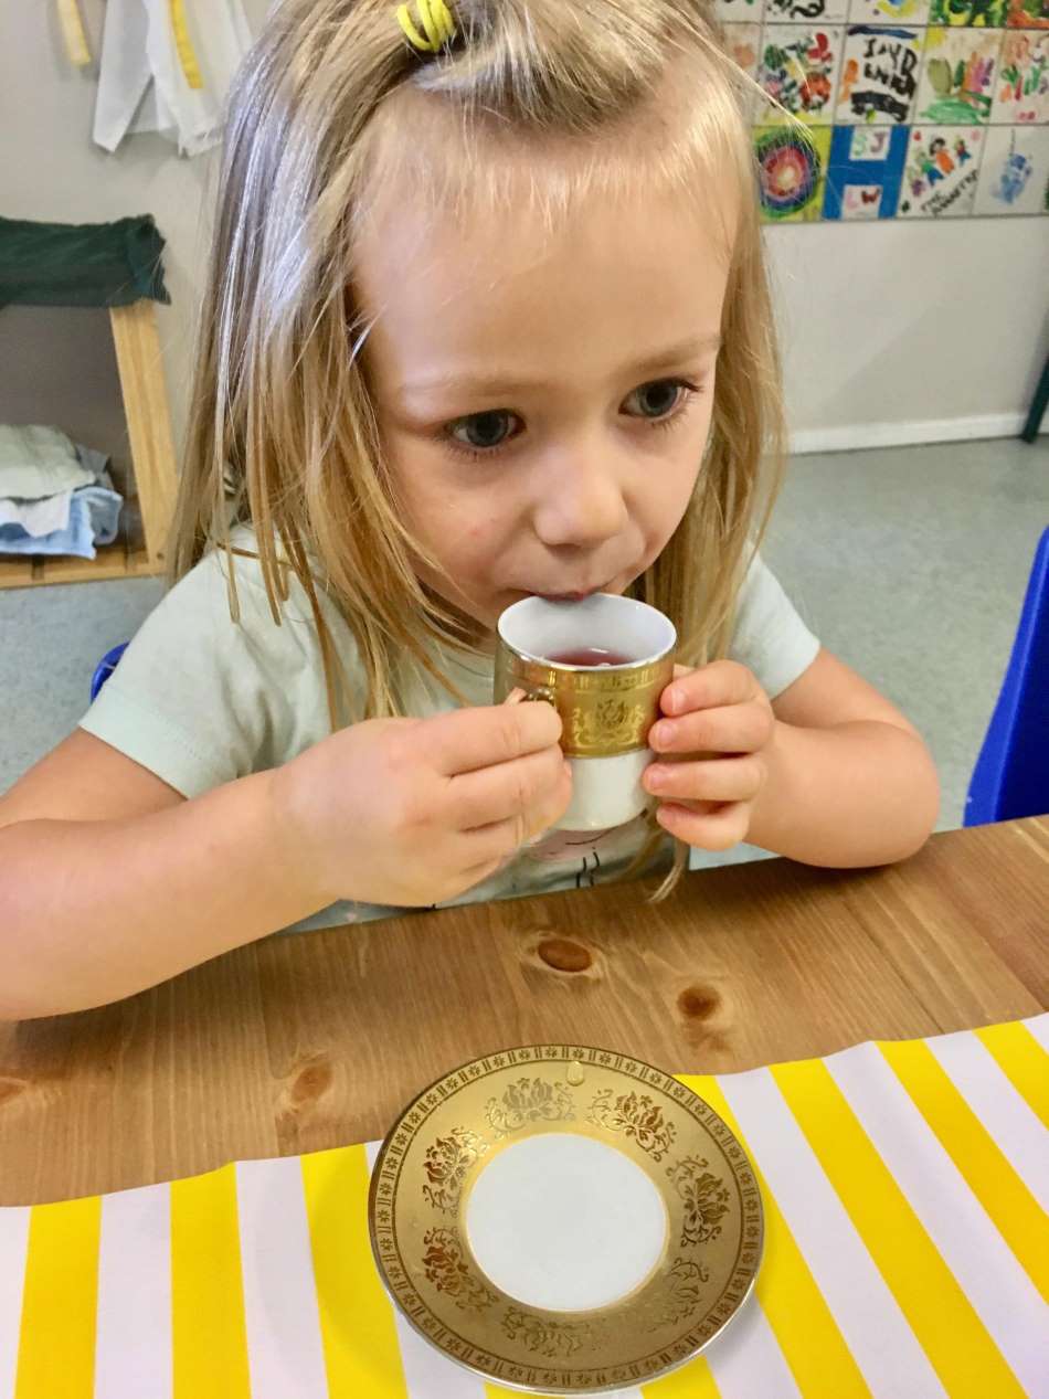
[[[250,534],[234,539],[252,547]],[[256,560],[235,557],[241,618],[229,616],[225,554],[210,554],[147,617],[80,726],[155,772],[186,797],[288,762],[331,732],[320,642],[297,579],[277,625]],[[357,644],[323,595],[320,610],[347,676],[361,679]],[[769,569],[755,558],[738,599],[730,655],[773,698],[808,669],[820,644]],[[441,656],[470,704],[492,702],[490,658]],[[456,708],[421,677],[415,718]],[[589,886],[622,873],[641,848],[643,818],[607,832],[554,832],[452,902]],[[670,842],[660,860],[669,860]],[[659,863],[659,862],[657,862]],[[295,930],[383,918],[400,909],[340,902]]]

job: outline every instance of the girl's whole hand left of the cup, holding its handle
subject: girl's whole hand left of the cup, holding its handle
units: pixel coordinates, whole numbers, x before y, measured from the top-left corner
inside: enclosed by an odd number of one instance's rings
[[[566,810],[559,737],[541,701],[352,725],[273,771],[278,839],[319,907],[455,898]]]

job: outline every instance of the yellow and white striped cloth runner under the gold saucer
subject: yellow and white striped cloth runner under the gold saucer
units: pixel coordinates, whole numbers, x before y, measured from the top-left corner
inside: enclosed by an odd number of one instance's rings
[[[1049,1399],[1049,1014],[685,1077],[757,1165],[744,1314],[629,1399]],[[0,1399],[497,1399],[372,1266],[378,1146],[0,1210]]]

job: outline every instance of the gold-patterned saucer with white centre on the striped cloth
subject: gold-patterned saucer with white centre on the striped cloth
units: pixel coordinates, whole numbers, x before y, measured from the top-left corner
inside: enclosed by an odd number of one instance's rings
[[[368,1214],[411,1325],[540,1393],[684,1364],[747,1300],[764,1233],[718,1114],[660,1069],[578,1045],[506,1049],[421,1093],[382,1144]]]

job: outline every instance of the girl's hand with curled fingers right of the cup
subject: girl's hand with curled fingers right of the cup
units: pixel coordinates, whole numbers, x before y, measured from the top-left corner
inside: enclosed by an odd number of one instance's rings
[[[765,785],[776,719],[751,672],[734,660],[681,670],[660,695],[643,785],[660,825],[688,845],[727,851],[747,839]]]

